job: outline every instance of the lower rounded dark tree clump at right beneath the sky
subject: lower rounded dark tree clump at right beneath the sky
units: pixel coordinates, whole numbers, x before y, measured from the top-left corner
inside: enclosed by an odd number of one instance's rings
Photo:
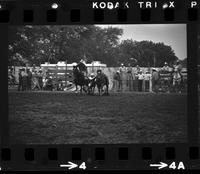
[[[164,62],[171,63],[178,59],[170,46],[152,41],[124,40],[119,49],[121,62],[131,63],[130,58],[135,58],[140,66],[163,66]]]

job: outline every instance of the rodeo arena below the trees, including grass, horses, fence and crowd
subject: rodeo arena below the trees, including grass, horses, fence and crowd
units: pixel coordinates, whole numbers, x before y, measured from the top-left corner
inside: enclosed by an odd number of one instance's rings
[[[11,143],[186,141],[187,70],[100,61],[9,67]]]

